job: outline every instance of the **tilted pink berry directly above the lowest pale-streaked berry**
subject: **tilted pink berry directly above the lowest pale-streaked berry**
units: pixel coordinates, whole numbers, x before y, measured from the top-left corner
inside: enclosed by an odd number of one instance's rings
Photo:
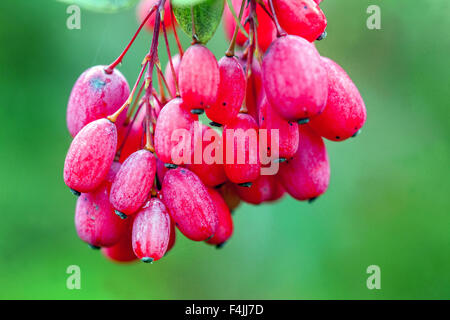
[[[156,158],[148,150],[136,151],[125,160],[114,179],[109,198],[113,207],[131,215],[145,203],[156,173]]]

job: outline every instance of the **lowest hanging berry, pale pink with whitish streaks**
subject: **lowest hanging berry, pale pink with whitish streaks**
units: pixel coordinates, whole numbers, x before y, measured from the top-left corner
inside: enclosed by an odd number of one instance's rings
[[[144,262],[161,259],[170,239],[170,216],[161,200],[152,198],[133,222],[133,250]]]

